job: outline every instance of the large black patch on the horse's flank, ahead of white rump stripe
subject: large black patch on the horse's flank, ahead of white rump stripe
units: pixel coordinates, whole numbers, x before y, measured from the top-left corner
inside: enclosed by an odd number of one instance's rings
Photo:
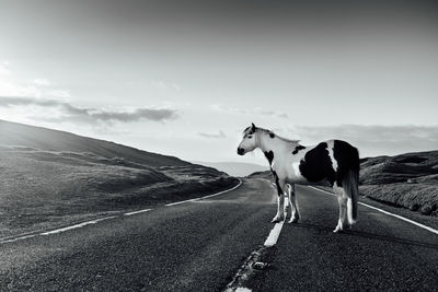
[[[309,150],[304,159],[300,161],[299,168],[302,176],[312,183],[327,179],[333,186],[336,179],[336,173],[332,167],[332,160],[330,159],[326,142],[319,143],[315,148]]]

